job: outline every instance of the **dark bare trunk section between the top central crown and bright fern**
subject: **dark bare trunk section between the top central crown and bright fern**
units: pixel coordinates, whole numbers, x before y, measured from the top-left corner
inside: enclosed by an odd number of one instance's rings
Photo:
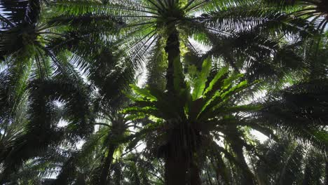
[[[166,90],[174,92],[174,62],[180,61],[179,34],[174,27],[170,30],[166,41],[165,52],[168,53],[168,69],[166,70]]]

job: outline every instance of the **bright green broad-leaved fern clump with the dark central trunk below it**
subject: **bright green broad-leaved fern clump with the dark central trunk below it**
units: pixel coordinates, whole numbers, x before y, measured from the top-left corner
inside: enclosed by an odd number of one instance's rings
[[[132,97],[132,100],[139,107],[125,110],[136,117],[148,115],[154,116],[155,120],[159,119],[157,125],[154,124],[157,130],[153,132],[156,132],[157,137],[155,143],[160,145],[158,155],[165,159],[165,183],[184,184],[187,181],[187,172],[195,178],[191,179],[191,183],[200,183],[195,158],[200,157],[201,146],[212,143],[210,132],[213,130],[226,135],[225,139],[231,141],[233,152],[239,156],[237,163],[245,167],[245,159],[240,156],[240,147],[242,149],[245,143],[240,139],[242,135],[238,131],[239,124],[233,113],[259,109],[257,104],[237,105],[235,102],[238,93],[250,85],[247,85],[247,81],[238,81],[238,74],[228,76],[227,68],[221,69],[212,81],[206,82],[211,69],[210,60],[205,60],[203,70],[195,81],[186,83],[179,61],[175,61],[175,65],[176,94],[163,93],[156,88],[140,89],[133,86],[139,97]],[[192,93],[190,87],[193,89]],[[246,171],[245,183],[252,181]]]

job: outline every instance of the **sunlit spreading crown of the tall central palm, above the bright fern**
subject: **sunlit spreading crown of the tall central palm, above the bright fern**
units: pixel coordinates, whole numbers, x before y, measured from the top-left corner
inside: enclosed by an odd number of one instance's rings
[[[250,74],[256,73],[252,64],[261,63],[264,60],[268,60],[264,62],[266,67],[270,66],[268,63],[276,62],[275,69],[281,68],[281,66],[277,66],[277,63],[285,62],[285,60],[272,60],[271,56],[279,55],[281,57],[281,55],[286,56],[292,52],[290,52],[291,50],[289,53],[282,52],[283,48],[279,48],[279,44],[274,42],[276,34],[280,31],[283,33],[279,35],[280,37],[287,33],[304,34],[310,32],[310,29],[306,28],[306,20],[289,18],[288,15],[279,13],[274,8],[264,8],[264,2],[261,2],[260,5],[257,4],[259,4],[258,1],[219,0],[54,1],[51,9],[56,12],[55,15],[60,15],[50,18],[50,22],[56,22],[58,25],[75,25],[78,22],[80,27],[87,27],[88,25],[83,24],[83,20],[102,22],[109,18],[120,18],[124,24],[121,25],[118,34],[109,33],[110,29],[106,25],[95,30],[95,33],[106,35],[103,40],[113,43],[120,50],[125,50],[133,63],[139,64],[144,60],[148,61],[149,77],[158,79],[154,74],[165,76],[166,88],[173,90],[174,69],[172,66],[174,60],[181,60],[184,56],[181,49],[186,48],[201,57],[199,50],[191,44],[189,39],[191,37],[207,46],[216,46],[224,41],[221,48],[217,48],[219,47],[217,46],[215,53],[212,50],[212,53],[207,56],[224,57],[224,61],[233,66],[240,65],[240,69],[252,69]],[[299,29],[300,27],[304,29]],[[270,32],[273,29],[276,31]],[[267,36],[258,37],[254,34],[261,35],[264,32],[271,33],[272,39],[271,37],[268,39]],[[245,47],[240,48],[245,51],[243,52],[244,59],[235,61],[235,58],[240,56],[240,50],[237,52],[229,49],[222,50],[222,46],[229,45],[234,48],[233,44],[242,39],[246,44]],[[262,46],[247,47],[252,39],[257,39]],[[289,46],[289,48],[291,47]],[[221,50],[221,54],[217,53],[218,50]],[[238,56],[235,58],[226,58],[229,55],[234,56],[236,53]],[[248,56],[245,57],[245,55]],[[292,56],[289,55],[289,57]],[[198,62],[200,66],[202,61]],[[235,64],[241,61],[242,64]],[[299,60],[296,57],[294,61]],[[167,69],[165,70],[165,68]],[[264,72],[263,75],[265,74]],[[149,81],[154,80],[149,79]]]

